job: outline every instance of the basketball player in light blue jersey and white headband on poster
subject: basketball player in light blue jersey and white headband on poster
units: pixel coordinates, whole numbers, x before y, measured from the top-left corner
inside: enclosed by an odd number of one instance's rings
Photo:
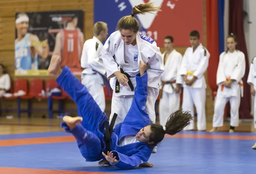
[[[17,38],[15,39],[15,70],[38,70],[38,55],[47,58],[48,41],[39,41],[37,35],[28,33],[29,17],[25,13],[17,15],[15,20]]]

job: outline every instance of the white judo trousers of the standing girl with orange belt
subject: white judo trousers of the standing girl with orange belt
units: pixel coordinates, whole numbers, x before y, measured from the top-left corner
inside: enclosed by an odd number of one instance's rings
[[[224,109],[227,102],[230,102],[230,126],[237,127],[239,125],[239,106],[241,101],[241,90],[238,97],[225,97],[218,95],[215,98],[214,115],[212,127],[218,128],[223,126]]]

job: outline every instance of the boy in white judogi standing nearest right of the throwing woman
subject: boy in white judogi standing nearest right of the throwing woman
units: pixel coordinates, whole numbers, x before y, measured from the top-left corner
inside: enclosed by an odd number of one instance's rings
[[[161,77],[162,93],[159,102],[159,120],[163,128],[171,113],[180,109],[180,89],[182,84],[182,78],[179,74],[182,55],[173,49],[172,36],[166,36],[164,47],[166,51],[162,54],[164,72]]]

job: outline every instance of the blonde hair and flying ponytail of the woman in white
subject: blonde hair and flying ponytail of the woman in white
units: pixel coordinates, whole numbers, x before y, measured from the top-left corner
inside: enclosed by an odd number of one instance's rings
[[[153,3],[145,3],[145,4],[140,4],[140,5],[134,6],[134,8],[132,9],[131,15],[122,17],[118,21],[117,29],[118,30],[131,29],[133,32],[137,33],[140,29],[140,23],[134,17],[134,15],[145,14],[147,12],[152,13],[152,12],[161,11],[160,8],[161,8],[160,6],[159,7],[154,7]]]

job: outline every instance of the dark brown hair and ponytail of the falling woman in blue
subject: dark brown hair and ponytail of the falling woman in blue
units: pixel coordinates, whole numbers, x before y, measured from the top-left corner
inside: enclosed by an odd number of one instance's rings
[[[166,133],[169,135],[175,135],[189,125],[192,119],[193,117],[189,111],[177,110],[173,112],[166,122],[166,130],[163,129],[162,125],[150,125],[152,133],[149,136],[149,141],[154,142],[153,145],[157,145],[163,140]]]

